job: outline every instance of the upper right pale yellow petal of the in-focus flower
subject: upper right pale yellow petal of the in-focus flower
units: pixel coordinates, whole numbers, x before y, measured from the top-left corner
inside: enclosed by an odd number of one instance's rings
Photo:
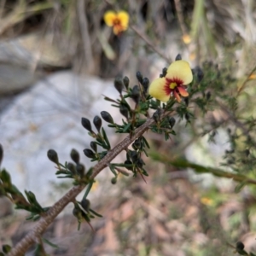
[[[189,84],[193,80],[193,74],[187,61],[174,61],[168,67],[166,73],[167,79],[180,79],[183,85]]]

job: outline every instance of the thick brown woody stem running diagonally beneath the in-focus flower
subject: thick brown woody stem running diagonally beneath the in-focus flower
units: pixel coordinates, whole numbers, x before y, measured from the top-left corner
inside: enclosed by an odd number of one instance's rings
[[[162,113],[161,119],[167,115],[173,115],[174,113],[166,112]],[[125,148],[127,148],[137,137],[143,135],[145,131],[148,131],[150,125],[154,124],[154,119],[148,119],[142,126],[138,127],[132,136],[127,136],[125,139],[111,149],[108,154],[94,166],[94,171],[91,178],[95,178],[102,170],[108,166],[108,164]],[[11,250],[9,256],[24,255],[29,247],[32,246],[36,240],[42,236],[44,230],[51,224],[57,215],[67,206],[67,204],[75,199],[77,195],[85,188],[85,185],[74,186],[70,189],[66,195],[62,196],[53,207],[49,208],[44,217],[41,217],[35,227]]]

